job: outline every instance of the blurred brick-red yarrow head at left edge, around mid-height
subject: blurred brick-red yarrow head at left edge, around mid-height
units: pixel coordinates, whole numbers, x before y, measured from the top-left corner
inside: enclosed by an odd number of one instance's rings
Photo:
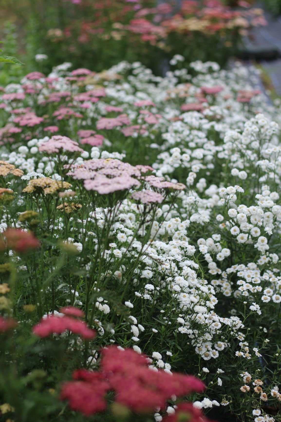
[[[21,229],[8,229],[3,233],[6,238],[6,245],[4,241],[0,242],[0,249],[13,249],[16,252],[27,252],[29,249],[35,249],[40,246],[38,239],[32,233],[24,232]]]

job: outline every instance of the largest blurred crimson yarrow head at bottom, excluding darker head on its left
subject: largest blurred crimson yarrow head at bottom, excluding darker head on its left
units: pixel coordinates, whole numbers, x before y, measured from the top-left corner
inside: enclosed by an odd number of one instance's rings
[[[136,412],[151,412],[155,407],[164,407],[173,394],[189,395],[205,387],[193,376],[151,371],[146,358],[132,349],[122,351],[114,346],[103,349],[101,368],[116,391],[116,401]]]

